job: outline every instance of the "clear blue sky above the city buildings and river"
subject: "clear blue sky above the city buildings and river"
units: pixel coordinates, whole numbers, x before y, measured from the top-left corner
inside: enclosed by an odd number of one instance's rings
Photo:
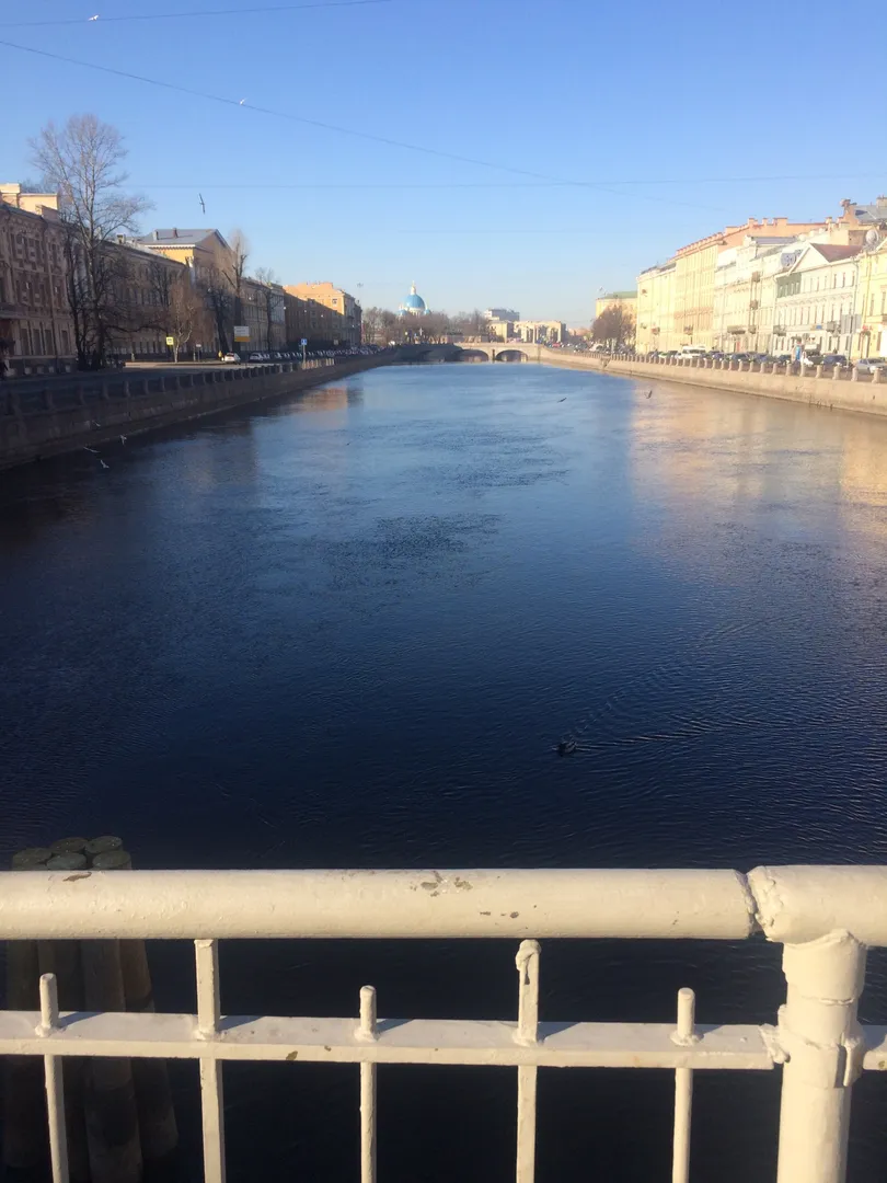
[[[823,0],[274,2],[5,5],[0,41],[199,93],[0,44],[0,180],[33,175],[47,119],[95,112],[155,202],[145,230],[240,226],[251,267],[364,306],[415,280],[435,309],[571,324],[724,225],[887,192],[885,34],[848,50]]]

